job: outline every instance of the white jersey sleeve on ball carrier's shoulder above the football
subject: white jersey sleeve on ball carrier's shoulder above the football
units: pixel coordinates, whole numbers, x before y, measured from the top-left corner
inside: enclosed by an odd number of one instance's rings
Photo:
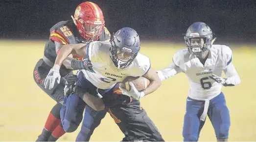
[[[133,63],[129,68],[130,76],[140,77],[145,75],[150,69],[150,60],[147,56],[138,53]]]

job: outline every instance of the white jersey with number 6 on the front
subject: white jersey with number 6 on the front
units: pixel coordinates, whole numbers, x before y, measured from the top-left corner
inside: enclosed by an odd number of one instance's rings
[[[210,79],[212,74],[221,76],[232,61],[232,51],[226,45],[212,45],[209,57],[203,65],[201,61],[187,49],[179,50],[173,56],[172,65],[158,71],[160,78],[166,79],[179,72],[184,72],[189,80],[188,97],[195,100],[210,100],[221,92],[222,84]],[[172,68],[178,69],[172,69]]]

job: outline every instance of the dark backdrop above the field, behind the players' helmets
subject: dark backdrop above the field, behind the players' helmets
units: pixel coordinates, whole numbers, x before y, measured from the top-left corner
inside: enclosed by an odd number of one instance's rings
[[[86,0],[1,0],[0,38],[47,39],[49,29],[70,20]],[[128,26],[147,40],[183,41],[195,21],[206,22],[218,40],[256,39],[256,0],[89,0],[102,9],[109,31]]]

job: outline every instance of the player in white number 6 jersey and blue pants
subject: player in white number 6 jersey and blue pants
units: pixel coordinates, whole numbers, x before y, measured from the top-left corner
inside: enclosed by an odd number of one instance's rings
[[[222,86],[240,84],[232,63],[232,51],[226,45],[215,45],[213,33],[204,22],[195,22],[186,31],[186,49],[173,56],[173,62],[158,71],[161,80],[184,72],[189,80],[184,117],[184,141],[198,141],[208,115],[217,141],[228,141],[230,114]],[[222,71],[226,78],[222,77]]]

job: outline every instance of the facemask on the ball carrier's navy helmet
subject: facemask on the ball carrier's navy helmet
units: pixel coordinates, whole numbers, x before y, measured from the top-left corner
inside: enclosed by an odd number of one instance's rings
[[[115,41],[111,41],[110,57],[117,68],[126,68],[138,55],[138,52],[132,53],[131,49],[116,46]]]

